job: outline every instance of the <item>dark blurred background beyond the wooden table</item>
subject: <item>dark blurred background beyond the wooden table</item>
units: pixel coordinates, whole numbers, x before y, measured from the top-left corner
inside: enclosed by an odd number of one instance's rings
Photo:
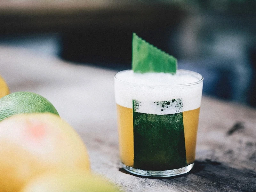
[[[0,26],[0,46],[114,70],[131,68],[136,32],[204,94],[256,107],[256,0],[5,0]]]

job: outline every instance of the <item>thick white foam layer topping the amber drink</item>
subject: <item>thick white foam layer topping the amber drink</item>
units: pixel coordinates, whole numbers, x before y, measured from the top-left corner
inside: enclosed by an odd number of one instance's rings
[[[134,73],[121,71],[115,76],[115,99],[118,105],[132,108],[132,100],[154,103],[172,99],[182,99],[183,111],[199,108],[201,105],[203,81],[196,72],[178,70],[175,75],[168,73]],[[187,84],[187,85],[184,85]],[[154,108],[145,108],[155,114]],[[143,110],[144,111],[144,110]],[[159,112],[165,114],[165,112]]]

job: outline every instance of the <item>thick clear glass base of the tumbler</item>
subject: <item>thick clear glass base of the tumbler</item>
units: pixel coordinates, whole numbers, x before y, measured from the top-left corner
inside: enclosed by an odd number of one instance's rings
[[[123,163],[121,164],[126,171],[132,174],[140,175],[140,176],[149,176],[149,177],[173,177],[173,176],[177,176],[177,175],[181,175],[189,172],[194,166],[194,163],[192,163],[186,167],[181,167],[178,169],[170,169],[165,171],[148,171],[148,170],[136,169],[130,166],[126,166]]]

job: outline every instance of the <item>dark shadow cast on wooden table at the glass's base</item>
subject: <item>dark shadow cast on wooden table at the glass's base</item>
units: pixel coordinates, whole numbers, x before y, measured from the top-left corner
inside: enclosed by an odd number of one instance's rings
[[[119,171],[126,172],[123,168]],[[137,176],[137,175],[136,175]],[[144,177],[164,181],[167,185],[182,185],[182,188],[189,191],[255,191],[256,172],[249,169],[236,169],[222,164],[218,161],[205,159],[195,161],[193,169],[183,175],[175,177]]]

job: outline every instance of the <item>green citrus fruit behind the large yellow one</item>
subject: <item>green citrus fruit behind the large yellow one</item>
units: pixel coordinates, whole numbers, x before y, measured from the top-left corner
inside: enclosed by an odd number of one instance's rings
[[[0,99],[0,121],[20,113],[45,113],[59,115],[52,103],[32,92],[14,92]]]

